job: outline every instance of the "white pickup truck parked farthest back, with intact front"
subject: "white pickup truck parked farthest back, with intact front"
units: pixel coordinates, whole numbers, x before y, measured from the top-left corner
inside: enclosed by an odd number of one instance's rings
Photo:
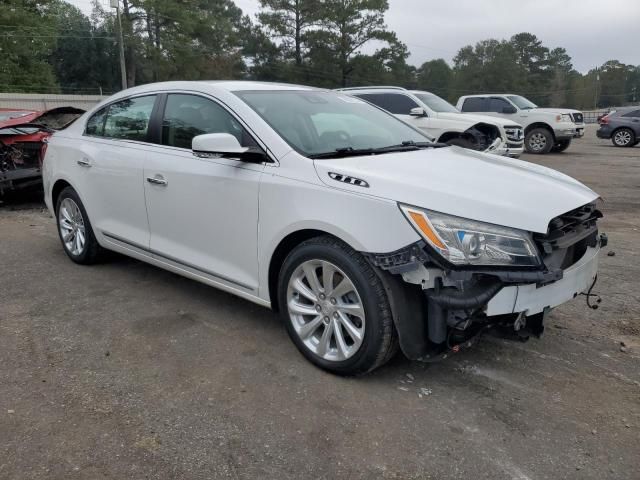
[[[465,95],[457,107],[465,113],[483,113],[509,119],[524,127],[529,153],[563,152],[574,138],[584,136],[584,115],[567,108],[540,108],[520,95]]]

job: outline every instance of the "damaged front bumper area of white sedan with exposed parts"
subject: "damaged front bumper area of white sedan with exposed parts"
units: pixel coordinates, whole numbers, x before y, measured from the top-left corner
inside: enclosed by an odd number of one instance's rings
[[[385,281],[400,347],[411,359],[433,361],[469,346],[483,332],[518,339],[540,336],[546,315],[595,284],[600,249],[592,206],[568,212],[572,233],[540,237],[541,269],[451,269],[438,265],[423,242],[386,255],[367,255]],[[564,253],[563,253],[564,252]]]

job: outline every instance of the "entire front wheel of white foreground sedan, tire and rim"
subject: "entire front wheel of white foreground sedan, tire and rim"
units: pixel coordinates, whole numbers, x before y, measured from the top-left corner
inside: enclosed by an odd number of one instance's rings
[[[324,370],[367,373],[397,351],[382,281],[360,253],[333,237],[312,238],[289,254],[278,302],[293,343]]]

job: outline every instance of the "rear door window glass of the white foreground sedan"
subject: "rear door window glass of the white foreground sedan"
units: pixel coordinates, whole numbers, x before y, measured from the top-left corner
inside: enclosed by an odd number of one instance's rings
[[[128,98],[109,106],[103,136],[147,141],[149,120],[156,96]]]

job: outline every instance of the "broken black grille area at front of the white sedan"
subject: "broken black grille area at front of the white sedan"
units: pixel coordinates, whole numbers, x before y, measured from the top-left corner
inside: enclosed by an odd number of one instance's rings
[[[599,218],[602,213],[589,203],[551,220],[545,235],[534,235],[546,267],[564,270],[580,260],[587,247],[596,246]]]

